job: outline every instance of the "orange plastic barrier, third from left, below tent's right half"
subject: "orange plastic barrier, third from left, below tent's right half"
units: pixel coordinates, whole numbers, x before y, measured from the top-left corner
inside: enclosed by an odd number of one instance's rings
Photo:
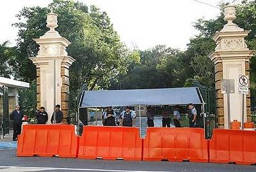
[[[143,161],[161,160],[208,162],[204,129],[148,128],[143,141]]]

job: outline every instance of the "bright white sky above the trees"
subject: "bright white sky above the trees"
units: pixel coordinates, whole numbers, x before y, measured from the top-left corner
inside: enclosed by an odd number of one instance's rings
[[[24,7],[47,6],[52,0],[8,0],[0,5],[0,43],[16,44],[18,30],[12,26],[15,14]],[[159,44],[186,50],[189,38],[198,31],[193,22],[198,18],[215,18],[220,10],[194,0],[79,0],[95,4],[106,11],[120,39],[128,47],[140,50]],[[217,6],[220,0],[200,0]],[[227,2],[226,0],[225,2]]]

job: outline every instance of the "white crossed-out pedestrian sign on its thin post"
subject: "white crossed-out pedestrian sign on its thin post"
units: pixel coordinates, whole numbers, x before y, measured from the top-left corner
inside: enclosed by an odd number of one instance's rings
[[[242,129],[244,129],[244,95],[249,93],[249,78],[245,75],[239,75],[239,94],[243,96],[242,103]]]

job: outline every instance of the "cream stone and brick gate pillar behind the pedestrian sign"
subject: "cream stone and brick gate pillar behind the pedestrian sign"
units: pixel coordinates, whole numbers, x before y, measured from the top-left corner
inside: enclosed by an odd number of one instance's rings
[[[242,121],[242,94],[238,93],[239,75],[250,76],[250,57],[253,50],[249,50],[244,38],[250,31],[238,27],[233,23],[236,19],[235,6],[225,7],[224,19],[228,22],[220,32],[213,36],[216,42],[215,52],[209,54],[209,58],[215,64],[216,83],[216,115],[220,128],[228,128],[227,94],[221,94],[221,81],[223,79],[234,79],[235,93],[230,94],[230,121],[234,119]],[[250,121],[250,94],[244,99],[244,122]]]

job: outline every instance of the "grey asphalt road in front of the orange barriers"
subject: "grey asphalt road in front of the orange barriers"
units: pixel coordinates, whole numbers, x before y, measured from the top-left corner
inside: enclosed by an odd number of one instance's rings
[[[16,157],[16,150],[0,150],[0,171],[256,171],[256,166],[193,162],[146,162],[65,159],[59,157]]]

